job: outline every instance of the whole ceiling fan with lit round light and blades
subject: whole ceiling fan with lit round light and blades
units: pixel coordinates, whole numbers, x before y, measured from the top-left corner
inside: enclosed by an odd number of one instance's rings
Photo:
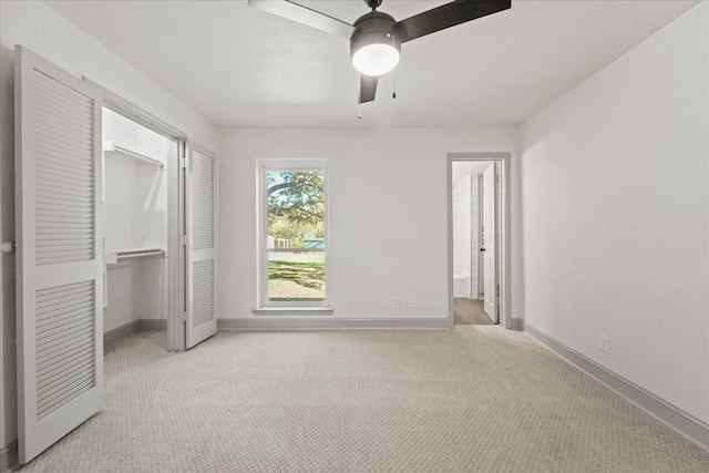
[[[364,0],[372,11],[349,24],[291,0],[248,0],[259,10],[349,40],[352,64],[360,72],[359,103],[374,100],[379,76],[397,66],[402,43],[507,10],[512,0],[454,0],[401,21],[377,11],[381,2]]]

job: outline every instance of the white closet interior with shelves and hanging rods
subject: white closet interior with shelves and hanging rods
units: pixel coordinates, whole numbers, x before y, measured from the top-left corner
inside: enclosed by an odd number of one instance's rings
[[[167,166],[174,143],[103,109],[104,337],[167,323]]]

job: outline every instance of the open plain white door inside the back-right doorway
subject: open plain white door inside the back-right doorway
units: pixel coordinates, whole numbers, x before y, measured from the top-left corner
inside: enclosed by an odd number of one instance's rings
[[[497,288],[495,284],[495,164],[483,172],[483,307],[487,317],[497,322]]]

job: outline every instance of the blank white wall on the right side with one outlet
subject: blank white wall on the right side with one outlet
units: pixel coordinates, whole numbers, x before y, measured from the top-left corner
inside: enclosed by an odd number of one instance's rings
[[[705,422],[708,9],[522,127],[525,323]]]

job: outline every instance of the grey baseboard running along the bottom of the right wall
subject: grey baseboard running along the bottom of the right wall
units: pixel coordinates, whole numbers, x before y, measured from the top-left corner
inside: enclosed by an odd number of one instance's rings
[[[517,319],[520,320],[520,319]],[[709,451],[709,424],[566,347],[522,320],[523,331],[676,432]]]

